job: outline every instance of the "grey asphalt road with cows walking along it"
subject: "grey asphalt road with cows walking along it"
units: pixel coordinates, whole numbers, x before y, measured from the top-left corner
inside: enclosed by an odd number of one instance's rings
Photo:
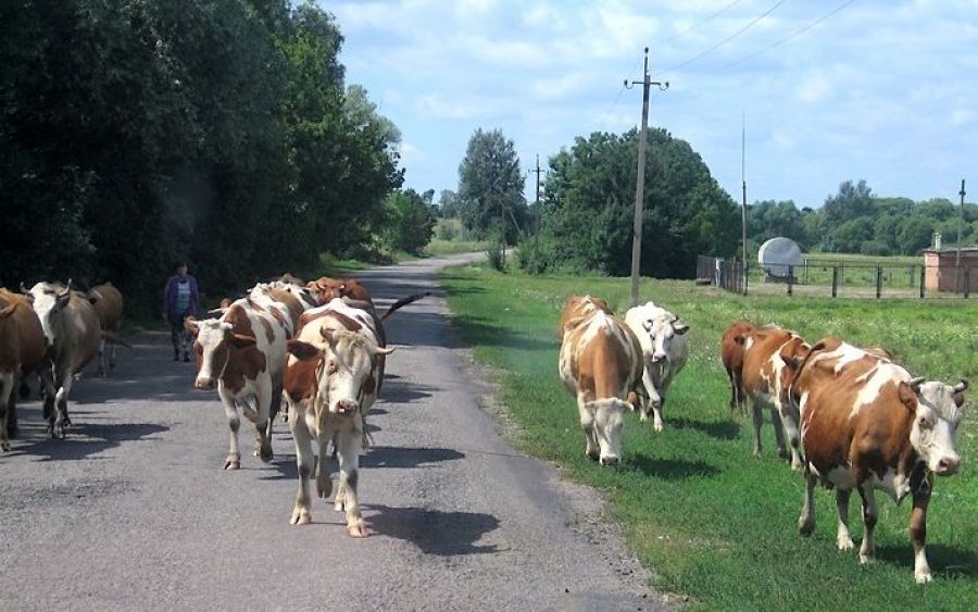
[[[360,276],[386,303],[435,289],[459,260]],[[280,421],[271,464],[222,469],[216,392],[191,388],[162,332],[131,338],[109,379],[75,386],[66,440],[46,439],[39,402],[22,404],[0,455],[0,610],[661,608],[595,496],[498,435],[446,313],[431,297],[388,320],[398,351],[368,417],[364,539],[318,499],[312,524],[289,525],[297,469]],[[250,449],[250,424],[241,435]]]

